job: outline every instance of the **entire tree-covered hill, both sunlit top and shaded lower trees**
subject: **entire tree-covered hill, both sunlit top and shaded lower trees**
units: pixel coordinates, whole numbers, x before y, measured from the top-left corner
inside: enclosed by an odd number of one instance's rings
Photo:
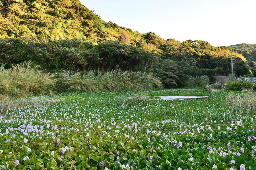
[[[242,54],[233,52],[236,75],[251,73]],[[53,72],[144,71],[174,87],[184,76],[228,75],[230,56],[230,47],[164,40],[105,22],[78,0],[0,0],[0,64],[6,68],[31,61]]]

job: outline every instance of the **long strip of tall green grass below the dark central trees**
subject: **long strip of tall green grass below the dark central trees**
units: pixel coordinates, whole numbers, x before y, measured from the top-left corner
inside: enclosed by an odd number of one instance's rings
[[[98,92],[121,89],[149,89],[160,88],[162,83],[152,74],[133,71],[77,72],[61,75],[55,85],[58,92],[88,91]]]

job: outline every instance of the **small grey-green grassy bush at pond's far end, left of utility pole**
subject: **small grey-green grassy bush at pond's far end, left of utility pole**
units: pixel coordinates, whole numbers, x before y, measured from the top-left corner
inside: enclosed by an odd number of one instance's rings
[[[209,84],[209,77],[208,76],[189,76],[186,80],[186,86],[194,87],[194,86],[203,86]]]

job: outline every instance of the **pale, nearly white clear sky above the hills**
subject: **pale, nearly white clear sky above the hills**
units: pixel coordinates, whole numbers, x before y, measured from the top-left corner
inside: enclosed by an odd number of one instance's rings
[[[80,0],[106,22],[163,39],[256,44],[256,0]]]

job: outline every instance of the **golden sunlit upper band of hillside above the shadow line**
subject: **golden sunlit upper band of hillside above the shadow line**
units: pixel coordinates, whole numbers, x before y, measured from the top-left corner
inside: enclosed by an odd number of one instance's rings
[[[0,38],[40,40],[85,39],[99,43],[119,41],[165,57],[229,57],[230,48],[205,41],[164,40],[155,33],[139,33],[105,22],[79,0],[0,0]],[[203,56],[203,57],[202,57]],[[235,57],[245,58],[241,54]]]

